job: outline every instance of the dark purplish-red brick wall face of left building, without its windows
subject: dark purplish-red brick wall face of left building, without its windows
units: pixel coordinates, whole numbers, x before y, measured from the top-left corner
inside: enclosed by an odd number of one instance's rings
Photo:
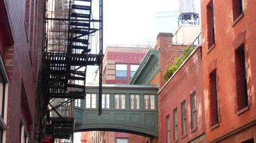
[[[27,2],[27,3],[26,3]],[[30,6],[26,9],[26,4]],[[13,45],[5,47],[5,66],[9,75],[9,95],[7,103],[7,134],[6,142],[18,142],[20,140],[20,120],[24,120],[30,142],[34,142],[34,116],[35,116],[35,97],[36,97],[36,81],[33,76],[33,66],[36,69],[36,54],[34,58],[30,58],[30,49],[36,52],[37,38],[37,0],[9,0],[5,1],[7,17],[11,35],[13,37]],[[26,11],[30,12],[26,12]],[[27,28],[29,40],[26,36],[25,17],[27,20]],[[30,30],[29,30],[30,29]],[[22,98],[22,82],[24,83],[24,95]],[[27,102],[28,108],[24,110],[22,103]],[[24,110],[22,111],[21,108]],[[25,115],[26,114],[26,115]],[[26,117],[28,115],[28,117]],[[30,117],[30,119],[29,119]]]

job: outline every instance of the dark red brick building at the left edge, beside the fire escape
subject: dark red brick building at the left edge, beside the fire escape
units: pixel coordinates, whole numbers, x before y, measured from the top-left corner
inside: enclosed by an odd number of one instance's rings
[[[0,142],[35,142],[38,59],[42,58],[38,5],[37,0],[0,1]]]

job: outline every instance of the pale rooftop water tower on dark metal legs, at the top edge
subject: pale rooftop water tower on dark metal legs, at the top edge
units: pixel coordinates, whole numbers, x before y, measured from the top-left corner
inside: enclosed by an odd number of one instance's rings
[[[178,27],[181,24],[199,25],[199,14],[195,13],[194,0],[179,0],[179,11]]]

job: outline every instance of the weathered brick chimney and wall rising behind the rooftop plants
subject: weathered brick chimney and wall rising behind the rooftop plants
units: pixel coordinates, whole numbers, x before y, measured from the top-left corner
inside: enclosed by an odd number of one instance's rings
[[[162,88],[164,81],[162,77],[167,66],[172,64],[174,58],[183,54],[184,45],[173,45],[172,33],[159,33],[157,36],[157,44],[155,49],[160,50],[160,81],[159,88]]]

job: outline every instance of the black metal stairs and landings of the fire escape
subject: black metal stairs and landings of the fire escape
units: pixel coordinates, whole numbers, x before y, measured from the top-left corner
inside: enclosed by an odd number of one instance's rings
[[[82,1],[86,5],[77,5],[77,1]],[[86,97],[87,66],[99,66],[100,73],[102,73],[102,44],[100,45],[99,54],[91,54],[91,37],[95,32],[100,30],[99,28],[91,28],[92,22],[94,21],[91,17],[92,0],[69,1],[69,15],[68,19],[65,19],[68,21],[67,47],[65,47],[65,50],[59,50],[59,52],[51,50],[44,51],[44,60],[49,63],[49,67],[46,69],[50,70],[49,87],[47,91],[44,91],[47,92],[48,99],[68,99],[65,103],[75,99],[84,99]],[[100,40],[102,40],[101,36]],[[100,74],[101,87],[102,75]],[[99,90],[99,96],[101,96],[101,90]],[[61,103],[61,105],[65,103]],[[55,109],[61,107],[61,105],[52,107],[48,113],[50,111],[56,112]],[[101,107],[99,107],[100,112]],[[57,114],[59,115],[59,113]],[[74,126],[73,118],[60,116],[51,117],[50,120],[51,125],[46,125],[45,127],[46,135],[55,136],[55,138],[70,138]]]

